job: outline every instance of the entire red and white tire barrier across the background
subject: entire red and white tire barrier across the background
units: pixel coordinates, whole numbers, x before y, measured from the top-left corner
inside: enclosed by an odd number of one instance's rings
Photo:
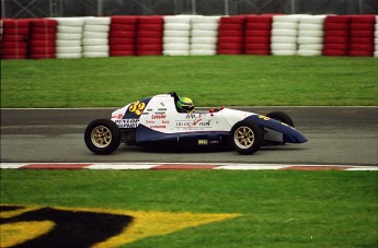
[[[115,15],[0,20],[1,59],[378,57],[378,15]]]

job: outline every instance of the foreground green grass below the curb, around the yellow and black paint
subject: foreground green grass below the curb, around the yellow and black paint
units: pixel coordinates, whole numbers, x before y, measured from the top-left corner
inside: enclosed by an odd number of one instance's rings
[[[1,203],[240,213],[127,247],[377,247],[375,172],[2,169]]]

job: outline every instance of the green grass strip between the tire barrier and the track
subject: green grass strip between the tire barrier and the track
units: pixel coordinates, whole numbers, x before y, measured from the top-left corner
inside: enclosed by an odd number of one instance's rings
[[[376,106],[377,82],[377,58],[2,60],[1,107],[118,107],[170,91],[197,106]]]

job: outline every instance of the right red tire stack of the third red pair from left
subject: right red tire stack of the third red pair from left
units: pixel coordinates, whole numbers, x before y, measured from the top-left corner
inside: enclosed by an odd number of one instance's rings
[[[272,15],[250,15],[245,19],[245,55],[271,55]]]

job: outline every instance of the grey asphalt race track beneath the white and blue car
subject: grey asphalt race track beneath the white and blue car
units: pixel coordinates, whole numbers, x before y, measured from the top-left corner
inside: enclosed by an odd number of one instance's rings
[[[85,146],[87,125],[114,109],[1,109],[1,162],[263,163],[313,165],[378,164],[378,107],[248,107],[259,114],[286,111],[309,140],[264,146],[254,155],[234,151],[183,152],[126,146],[112,155]]]

